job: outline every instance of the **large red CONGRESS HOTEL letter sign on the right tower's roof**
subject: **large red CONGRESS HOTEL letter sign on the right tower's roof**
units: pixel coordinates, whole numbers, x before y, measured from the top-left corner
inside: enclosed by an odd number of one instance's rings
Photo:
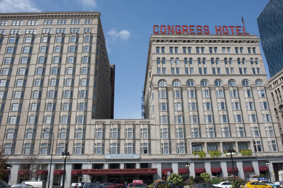
[[[154,25],[154,34],[210,34],[208,25]],[[217,35],[250,35],[245,31],[244,26],[215,26]]]

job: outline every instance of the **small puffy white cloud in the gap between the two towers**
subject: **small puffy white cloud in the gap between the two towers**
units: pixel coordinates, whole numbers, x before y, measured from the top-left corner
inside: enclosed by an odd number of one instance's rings
[[[116,28],[111,29],[110,31],[106,32],[106,48],[108,52],[111,52],[111,49],[109,48],[110,44],[116,41],[117,38],[121,39],[129,39],[131,36],[131,32],[128,30],[122,30],[119,31]]]

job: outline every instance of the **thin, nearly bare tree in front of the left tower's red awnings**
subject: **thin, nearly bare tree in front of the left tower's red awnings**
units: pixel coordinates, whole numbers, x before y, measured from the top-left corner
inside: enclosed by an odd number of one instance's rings
[[[26,163],[21,164],[21,169],[25,170],[22,174],[24,179],[34,180],[37,176],[36,172],[39,169],[39,166],[42,163],[42,158],[39,155],[26,155]]]

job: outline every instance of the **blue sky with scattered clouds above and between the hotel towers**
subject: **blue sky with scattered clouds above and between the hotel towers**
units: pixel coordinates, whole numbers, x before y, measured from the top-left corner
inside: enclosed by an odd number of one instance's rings
[[[259,37],[256,19],[267,2],[268,0],[0,0],[0,12],[100,11],[109,61],[116,65],[114,118],[136,119],[141,118],[141,92],[153,25],[208,25],[210,31],[213,31],[215,25],[242,25],[243,14],[247,31]],[[263,54],[262,49],[261,52]],[[263,58],[268,73],[264,55]]]

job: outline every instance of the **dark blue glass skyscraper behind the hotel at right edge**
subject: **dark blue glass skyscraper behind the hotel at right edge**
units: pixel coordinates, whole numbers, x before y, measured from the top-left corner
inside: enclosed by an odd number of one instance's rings
[[[283,68],[283,1],[270,0],[257,18],[270,77]]]

